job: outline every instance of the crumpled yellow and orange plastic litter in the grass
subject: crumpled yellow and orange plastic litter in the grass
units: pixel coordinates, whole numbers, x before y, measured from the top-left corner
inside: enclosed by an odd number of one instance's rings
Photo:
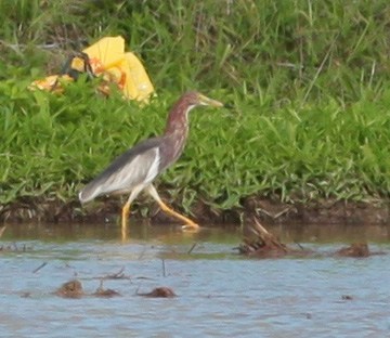
[[[148,102],[154,92],[152,81],[142,65],[141,61],[131,52],[125,52],[125,39],[118,37],[106,37],[83,51],[88,55],[89,69],[93,76],[103,77],[103,83],[99,90],[109,95],[110,83],[117,84],[128,100]],[[69,67],[77,72],[84,72],[84,60],[75,56]],[[30,90],[41,89],[47,91],[63,91],[62,81],[73,81],[74,78],[67,74],[51,75],[44,79],[34,81],[29,86]]]

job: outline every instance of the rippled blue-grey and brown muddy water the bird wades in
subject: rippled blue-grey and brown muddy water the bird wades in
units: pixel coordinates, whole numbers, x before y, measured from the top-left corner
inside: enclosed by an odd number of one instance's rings
[[[238,257],[239,231],[135,224],[123,243],[114,225],[10,225],[0,240],[0,336],[390,336],[390,255],[327,256],[361,240],[390,252],[389,227],[270,230],[322,255]],[[74,278],[86,296],[58,297]],[[92,296],[102,281],[120,296]],[[162,286],[178,297],[138,295]]]

